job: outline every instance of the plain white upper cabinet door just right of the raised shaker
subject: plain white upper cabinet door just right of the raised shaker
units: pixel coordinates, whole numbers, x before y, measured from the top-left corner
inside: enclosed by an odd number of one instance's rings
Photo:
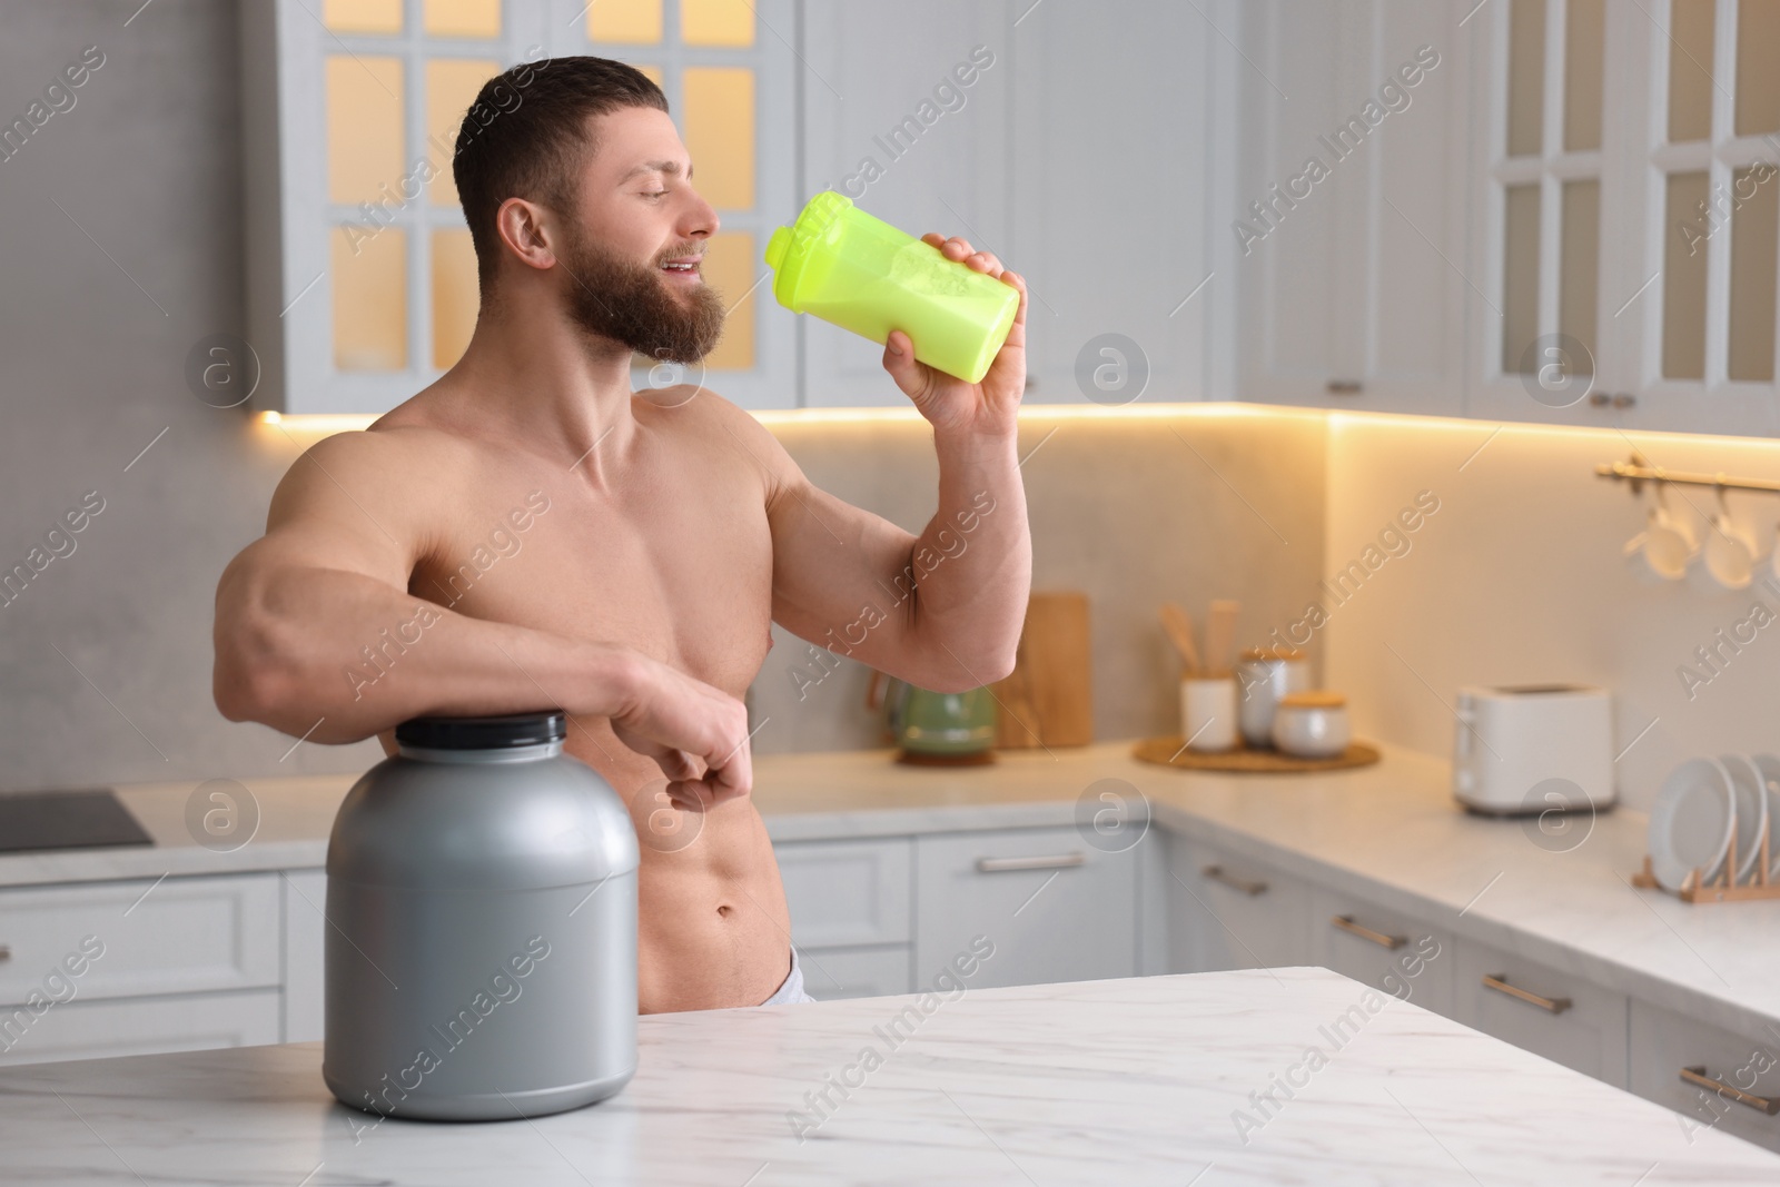
[[[1212,319],[1235,292],[1210,262],[1209,80],[1225,43],[1209,21],[1234,36],[1235,20],[1194,9],[1015,4],[1009,263],[1031,294],[1027,404],[1230,399],[1209,377]]]

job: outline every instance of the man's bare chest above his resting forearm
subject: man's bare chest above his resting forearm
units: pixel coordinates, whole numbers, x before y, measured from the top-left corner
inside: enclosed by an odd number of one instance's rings
[[[758,488],[682,475],[614,498],[570,475],[441,507],[409,589],[459,614],[614,642],[740,696],[771,646]]]

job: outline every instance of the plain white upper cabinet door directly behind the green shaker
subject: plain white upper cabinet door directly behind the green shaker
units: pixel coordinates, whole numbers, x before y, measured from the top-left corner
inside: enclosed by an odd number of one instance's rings
[[[963,235],[1011,260],[1009,21],[1000,0],[805,4],[799,201],[833,189],[910,235]],[[790,319],[765,285],[756,299],[760,317]],[[813,317],[797,333],[808,408],[908,404],[881,345]]]

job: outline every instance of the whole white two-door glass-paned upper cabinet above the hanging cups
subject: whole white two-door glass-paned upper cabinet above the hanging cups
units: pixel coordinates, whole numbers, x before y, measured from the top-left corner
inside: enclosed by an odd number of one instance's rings
[[[1468,411],[1780,431],[1780,0],[1490,9]]]

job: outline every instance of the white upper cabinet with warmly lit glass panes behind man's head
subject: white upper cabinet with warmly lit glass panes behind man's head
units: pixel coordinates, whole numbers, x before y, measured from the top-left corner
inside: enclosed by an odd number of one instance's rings
[[[703,274],[728,306],[698,367],[749,408],[796,404],[789,319],[756,317],[758,246],[792,208],[790,0],[272,0],[242,11],[249,342],[258,408],[381,413],[457,361],[477,272],[452,183],[481,87],[520,62],[595,53],[668,96],[719,230]],[[525,101],[534,75],[479,116]]]

